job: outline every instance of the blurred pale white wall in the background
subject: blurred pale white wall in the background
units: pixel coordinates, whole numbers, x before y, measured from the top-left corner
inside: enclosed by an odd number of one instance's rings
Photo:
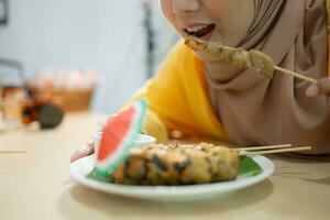
[[[94,68],[102,80],[94,109],[114,112],[143,85],[145,51],[142,0],[9,0],[0,26],[0,57],[23,62],[32,76],[43,68]],[[156,14],[158,31],[168,28]],[[158,38],[163,37],[158,33]],[[170,41],[169,41],[170,42]],[[164,44],[163,44],[164,43]],[[164,46],[163,46],[164,47]],[[164,54],[164,48],[162,52]]]

